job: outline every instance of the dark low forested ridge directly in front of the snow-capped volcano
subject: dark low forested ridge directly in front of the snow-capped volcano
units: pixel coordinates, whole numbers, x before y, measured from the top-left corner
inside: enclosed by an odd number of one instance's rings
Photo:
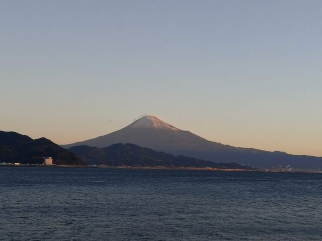
[[[87,165],[93,163],[110,166],[145,166],[145,167],[212,167],[218,169],[252,169],[236,163],[214,163],[195,158],[178,156],[134,144],[113,144],[106,148],[76,146],[68,149],[82,157]]]

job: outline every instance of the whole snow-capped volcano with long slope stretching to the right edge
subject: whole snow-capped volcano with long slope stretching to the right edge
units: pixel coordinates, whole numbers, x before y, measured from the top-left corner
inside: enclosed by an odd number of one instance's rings
[[[301,169],[322,169],[322,158],[240,148],[208,141],[183,131],[155,116],[145,115],[125,128],[94,139],[61,145],[63,148],[87,145],[105,148],[116,143],[132,143],[173,155],[184,155],[213,162],[235,162],[257,168],[291,166]]]

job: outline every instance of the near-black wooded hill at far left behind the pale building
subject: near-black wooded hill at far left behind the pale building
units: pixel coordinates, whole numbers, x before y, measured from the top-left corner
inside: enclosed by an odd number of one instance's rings
[[[84,165],[73,153],[46,138],[33,140],[16,132],[0,131],[0,161],[22,164],[43,163],[42,157],[52,157],[57,165]]]

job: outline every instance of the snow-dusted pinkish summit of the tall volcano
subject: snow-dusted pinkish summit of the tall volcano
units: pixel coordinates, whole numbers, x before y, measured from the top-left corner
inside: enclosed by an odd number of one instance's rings
[[[171,131],[178,131],[179,129],[161,121],[159,118],[153,115],[144,115],[141,118],[137,119],[126,128],[133,128],[133,129],[158,129],[158,130],[171,130]]]

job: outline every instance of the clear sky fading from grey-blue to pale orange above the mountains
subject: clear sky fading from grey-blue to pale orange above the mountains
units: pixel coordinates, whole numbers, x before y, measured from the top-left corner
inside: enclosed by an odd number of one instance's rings
[[[0,0],[0,130],[58,144],[151,114],[322,156],[322,2]]]

